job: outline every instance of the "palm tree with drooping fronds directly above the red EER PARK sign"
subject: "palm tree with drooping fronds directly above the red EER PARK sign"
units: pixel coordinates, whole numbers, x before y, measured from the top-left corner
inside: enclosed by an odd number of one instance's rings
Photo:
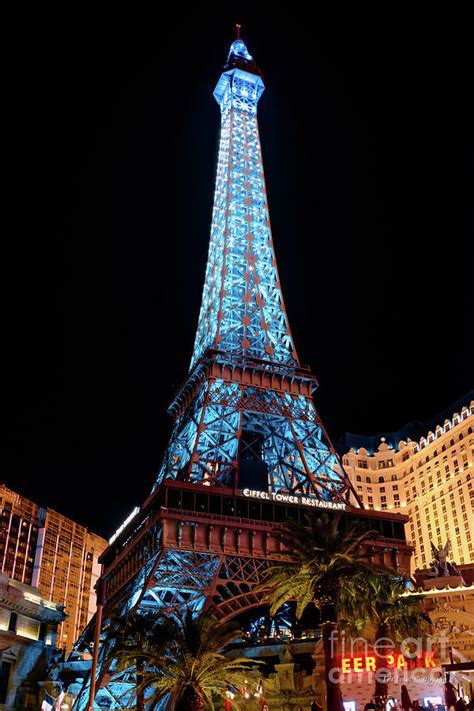
[[[341,626],[357,631],[375,629],[376,673],[375,700],[387,701],[388,684],[385,674],[387,656],[392,645],[426,632],[430,618],[421,609],[418,599],[406,595],[407,580],[394,575],[359,574],[346,582],[339,596],[338,612]],[[383,706],[385,708],[385,706]]]

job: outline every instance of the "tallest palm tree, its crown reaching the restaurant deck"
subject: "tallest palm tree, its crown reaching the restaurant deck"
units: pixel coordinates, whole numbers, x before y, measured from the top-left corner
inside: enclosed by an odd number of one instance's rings
[[[271,614],[290,600],[296,600],[297,619],[311,603],[319,609],[327,708],[343,711],[339,683],[331,674],[338,666],[337,607],[348,578],[375,570],[361,553],[361,544],[371,532],[361,533],[357,522],[341,528],[340,513],[330,517],[326,512],[311,512],[306,518],[306,526],[290,519],[275,532],[284,546],[285,561],[268,568],[257,590],[267,591]]]

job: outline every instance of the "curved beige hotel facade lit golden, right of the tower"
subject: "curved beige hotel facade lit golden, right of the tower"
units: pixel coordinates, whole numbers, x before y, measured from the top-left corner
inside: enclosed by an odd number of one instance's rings
[[[397,509],[410,517],[407,541],[413,568],[426,568],[432,541],[451,541],[450,560],[474,561],[474,401],[440,422],[419,441],[376,451],[351,448],[342,463],[366,508]]]

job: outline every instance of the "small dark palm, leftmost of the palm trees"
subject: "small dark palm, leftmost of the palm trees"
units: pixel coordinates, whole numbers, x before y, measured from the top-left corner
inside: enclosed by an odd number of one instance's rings
[[[105,662],[115,660],[121,670],[134,669],[137,711],[145,711],[141,687],[147,660],[156,652],[155,632],[160,619],[155,613],[132,611],[123,618],[114,616],[110,620]]]

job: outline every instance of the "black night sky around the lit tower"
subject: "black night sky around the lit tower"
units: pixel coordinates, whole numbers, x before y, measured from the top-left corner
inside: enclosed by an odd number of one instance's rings
[[[329,434],[429,419],[474,385],[467,17],[205,7],[41,7],[11,28],[1,477],[105,536],[151,489],[189,366],[235,22]]]

